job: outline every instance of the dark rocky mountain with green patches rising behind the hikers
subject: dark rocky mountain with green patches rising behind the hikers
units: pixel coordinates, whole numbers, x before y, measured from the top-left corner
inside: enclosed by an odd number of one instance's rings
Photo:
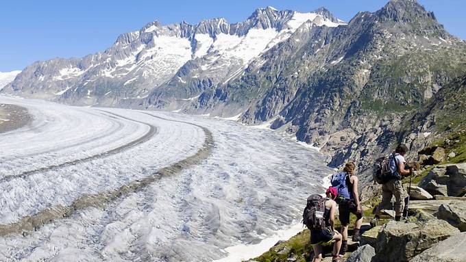
[[[447,90],[466,74],[465,42],[408,0],[360,12],[346,26],[306,23],[260,59],[242,77],[204,91],[185,111],[231,116],[245,109],[241,122],[268,122],[295,134],[331,155],[330,166],[356,161],[365,183],[373,159],[397,142],[417,156],[445,135],[432,119],[450,117],[437,117],[434,108],[447,112],[455,102],[448,95],[455,91]],[[463,105],[464,97],[454,99]],[[464,114],[458,111],[458,118]]]

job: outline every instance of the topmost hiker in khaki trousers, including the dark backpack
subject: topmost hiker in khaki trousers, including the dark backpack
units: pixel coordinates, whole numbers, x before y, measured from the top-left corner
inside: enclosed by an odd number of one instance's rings
[[[375,211],[375,218],[371,221],[371,226],[376,226],[380,219],[380,211],[387,207],[392,196],[395,196],[395,220],[400,221],[403,213],[404,190],[402,177],[412,174],[413,170],[407,168],[404,155],[408,152],[408,147],[404,144],[398,144],[395,152],[389,157],[382,157],[376,160],[374,165],[373,179],[382,184],[382,202]],[[405,206],[407,203],[405,203]],[[407,213],[407,210],[406,210]]]

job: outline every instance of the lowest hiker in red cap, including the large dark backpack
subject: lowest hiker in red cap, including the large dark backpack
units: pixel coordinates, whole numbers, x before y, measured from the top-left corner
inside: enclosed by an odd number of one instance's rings
[[[319,262],[322,259],[322,246],[335,241],[332,252],[332,261],[339,261],[341,247],[341,234],[334,229],[336,202],[338,195],[334,187],[329,187],[327,197],[312,194],[308,198],[308,204],[303,213],[303,222],[310,230],[310,244],[314,250],[314,259]]]

